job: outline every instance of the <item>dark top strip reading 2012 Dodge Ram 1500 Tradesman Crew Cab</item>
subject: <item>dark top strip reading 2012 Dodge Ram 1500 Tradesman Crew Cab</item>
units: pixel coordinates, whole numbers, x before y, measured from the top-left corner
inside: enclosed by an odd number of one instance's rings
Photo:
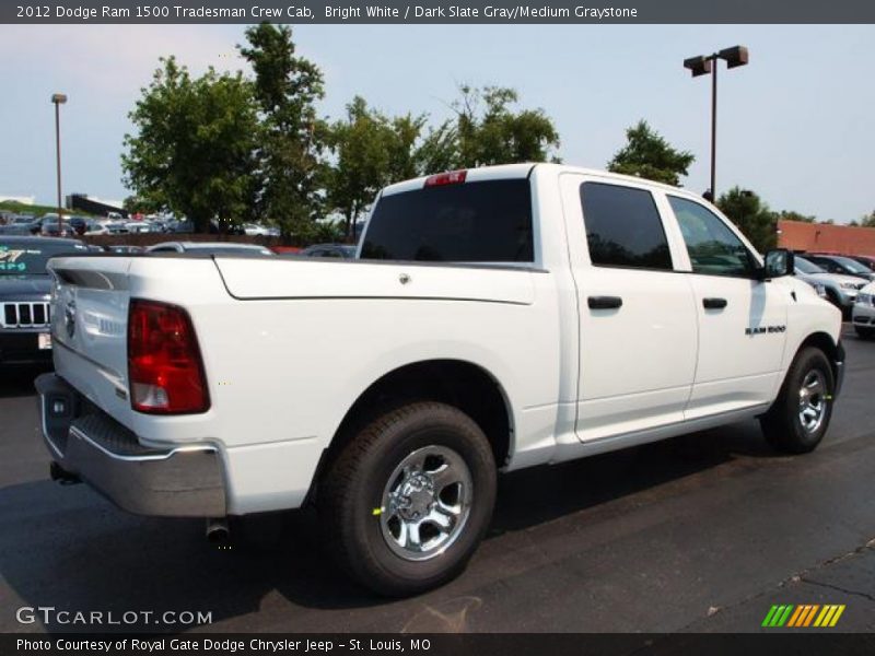
[[[0,2],[0,22],[57,23],[875,23],[871,0],[55,0]]]

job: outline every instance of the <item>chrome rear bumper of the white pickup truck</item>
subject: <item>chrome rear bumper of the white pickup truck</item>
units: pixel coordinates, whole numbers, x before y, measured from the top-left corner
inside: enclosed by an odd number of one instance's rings
[[[222,517],[222,458],[212,445],[142,446],[63,378],[36,379],[43,438],[55,462],[138,515]]]

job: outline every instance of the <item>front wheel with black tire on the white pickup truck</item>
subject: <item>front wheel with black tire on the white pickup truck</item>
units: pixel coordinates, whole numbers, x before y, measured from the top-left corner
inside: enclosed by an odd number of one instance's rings
[[[803,419],[803,386],[806,388]],[[817,448],[829,427],[836,390],[829,360],[820,349],[805,347],[796,353],[778,399],[760,418],[766,440],[778,450],[807,454]],[[821,410],[822,409],[822,410]]]

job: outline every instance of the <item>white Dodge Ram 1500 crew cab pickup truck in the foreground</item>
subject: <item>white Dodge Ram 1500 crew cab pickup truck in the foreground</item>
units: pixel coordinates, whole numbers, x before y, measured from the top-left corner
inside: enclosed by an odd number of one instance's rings
[[[51,260],[55,478],[140,514],[315,504],[387,595],[439,585],[495,477],[759,418],[809,452],[841,316],[681,189],[555,164],[378,196],[355,260]],[[791,276],[788,276],[791,274]]]

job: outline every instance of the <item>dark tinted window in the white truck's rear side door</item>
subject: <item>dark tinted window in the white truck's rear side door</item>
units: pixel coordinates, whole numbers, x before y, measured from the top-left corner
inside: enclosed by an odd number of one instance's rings
[[[672,269],[668,242],[650,191],[584,183],[581,203],[594,265]]]

